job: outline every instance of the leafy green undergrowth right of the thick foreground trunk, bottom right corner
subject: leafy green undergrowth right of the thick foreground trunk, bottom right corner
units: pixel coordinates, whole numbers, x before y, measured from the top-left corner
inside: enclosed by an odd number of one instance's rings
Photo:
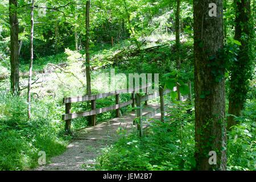
[[[228,169],[256,170],[256,102],[246,104],[240,125],[233,126],[228,133]]]

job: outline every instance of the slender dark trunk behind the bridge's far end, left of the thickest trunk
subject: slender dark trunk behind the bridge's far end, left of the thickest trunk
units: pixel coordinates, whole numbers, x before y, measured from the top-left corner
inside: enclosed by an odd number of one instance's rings
[[[180,69],[180,0],[177,0],[176,14],[175,14],[175,36],[176,36],[176,68]],[[177,100],[180,101],[180,86],[177,84]]]

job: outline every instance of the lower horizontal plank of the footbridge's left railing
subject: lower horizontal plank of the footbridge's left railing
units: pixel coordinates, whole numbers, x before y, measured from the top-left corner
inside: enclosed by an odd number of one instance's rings
[[[94,110],[85,111],[85,112],[81,112],[81,113],[63,114],[63,120],[66,121],[68,119],[75,119],[75,118],[80,118],[80,117],[86,117],[89,115],[101,114],[101,113],[105,113],[110,110],[120,109],[120,108],[130,105],[132,103],[133,103],[133,100],[130,100],[127,102],[123,102],[122,104],[104,107],[104,108],[100,108],[100,109],[94,109]]]

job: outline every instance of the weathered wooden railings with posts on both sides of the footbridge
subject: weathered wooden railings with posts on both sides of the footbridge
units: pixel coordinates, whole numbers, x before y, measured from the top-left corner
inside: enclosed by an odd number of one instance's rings
[[[63,114],[63,120],[65,121],[65,131],[67,133],[71,133],[71,120],[75,118],[80,117],[91,117],[92,125],[96,125],[96,115],[105,113],[110,110],[115,110],[115,117],[119,117],[120,109],[122,107],[131,105],[133,108],[135,108],[135,104],[137,107],[137,118],[139,119],[138,122],[138,130],[139,135],[142,135],[142,102],[145,102],[147,105],[148,100],[152,100],[156,97],[160,96],[160,111],[161,111],[161,121],[164,119],[164,100],[163,96],[167,93],[170,93],[170,90],[163,90],[162,88],[159,89],[159,92],[155,93],[147,93],[148,88],[151,86],[151,84],[147,84],[144,86],[138,86],[133,89],[122,89],[122,90],[116,90],[115,92],[109,92],[109,93],[101,93],[97,95],[90,95],[90,96],[80,96],[80,97],[68,97],[63,99],[63,103],[65,104],[65,114]],[[146,90],[146,95],[141,96],[138,92],[140,90]],[[120,103],[119,96],[120,94],[131,94],[131,100],[127,102]],[[135,97],[136,93],[136,97]],[[101,98],[106,98],[110,96],[115,96],[115,105],[109,106],[109,107],[103,107],[100,109],[96,109],[96,100]],[[71,113],[71,104],[76,102],[85,102],[90,101],[91,102],[91,110],[90,111],[84,111],[81,113]]]

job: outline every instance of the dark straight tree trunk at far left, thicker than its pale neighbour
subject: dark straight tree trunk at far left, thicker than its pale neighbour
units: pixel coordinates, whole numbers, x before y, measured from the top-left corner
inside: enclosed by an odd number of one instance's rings
[[[17,0],[9,0],[11,92],[15,95],[19,93],[19,23],[17,18],[17,6]]]

